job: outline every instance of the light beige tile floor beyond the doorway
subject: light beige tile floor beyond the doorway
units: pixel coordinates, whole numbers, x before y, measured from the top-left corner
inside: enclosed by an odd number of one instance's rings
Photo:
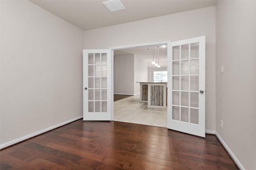
[[[114,102],[114,121],[167,127],[167,108],[148,108],[134,95]]]

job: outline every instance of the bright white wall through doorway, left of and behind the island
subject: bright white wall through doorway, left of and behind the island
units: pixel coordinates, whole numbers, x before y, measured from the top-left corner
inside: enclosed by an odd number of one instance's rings
[[[136,82],[148,82],[148,66],[139,55],[134,55],[134,94],[140,94],[140,83]]]

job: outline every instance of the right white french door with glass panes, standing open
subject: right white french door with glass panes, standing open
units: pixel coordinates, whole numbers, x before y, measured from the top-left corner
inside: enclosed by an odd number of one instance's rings
[[[167,127],[205,137],[205,36],[171,42],[169,49]]]

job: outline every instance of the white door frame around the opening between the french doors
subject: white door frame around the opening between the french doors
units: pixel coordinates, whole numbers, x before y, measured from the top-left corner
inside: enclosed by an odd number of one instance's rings
[[[111,51],[111,120],[114,119],[114,50],[131,49],[136,47],[147,47],[147,46],[154,46],[154,45],[166,45],[166,44],[167,44],[167,58],[168,58],[168,56],[171,55],[170,40],[154,42],[154,43],[143,43],[143,44],[136,44],[136,45],[110,47],[110,51]],[[167,65],[167,69],[168,69],[168,65]]]

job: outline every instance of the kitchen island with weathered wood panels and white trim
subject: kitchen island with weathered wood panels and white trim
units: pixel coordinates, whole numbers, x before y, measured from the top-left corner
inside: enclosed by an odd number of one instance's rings
[[[140,102],[148,102],[148,107],[167,107],[167,82],[140,83]]]

